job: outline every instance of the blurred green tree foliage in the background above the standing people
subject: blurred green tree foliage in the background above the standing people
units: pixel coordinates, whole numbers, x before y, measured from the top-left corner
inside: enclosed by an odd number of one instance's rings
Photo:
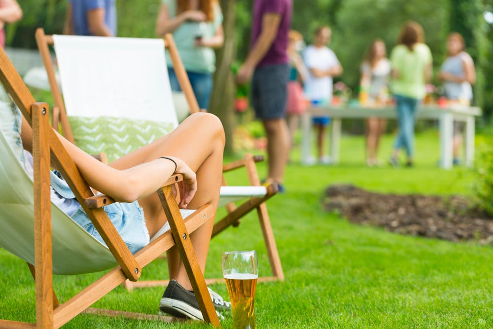
[[[237,0],[231,0],[237,1]],[[237,61],[242,61],[249,48],[253,0],[236,2],[235,39]],[[35,48],[34,31],[43,27],[48,34],[61,33],[65,20],[66,0],[20,1],[22,21],[7,26],[7,45]],[[117,1],[118,35],[121,37],[154,37],[159,0]],[[482,15],[492,10],[493,0],[294,0],[292,27],[308,43],[320,25],[330,25],[333,38],[330,47],[336,52],[344,73],[339,78],[356,90],[359,66],[369,43],[382,38],[387,51],[395,44],[403,22],[412,19],[423,25],[426,43],[433,53],[435,72],[444,60],[445,40],[449,32],[461,33],[467,51],[473,57],[478,73],[475,104],[482,106],[486,117],[493,113],[493,26]],[[433,81],[438,83],[438,81]]]

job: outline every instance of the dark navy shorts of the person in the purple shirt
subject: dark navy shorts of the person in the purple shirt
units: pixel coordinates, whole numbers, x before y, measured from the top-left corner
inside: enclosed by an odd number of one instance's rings
[[[251,99],[257,119],[285,117],[288,79],[287,64],[270,64],[255,69],[251,83]]]

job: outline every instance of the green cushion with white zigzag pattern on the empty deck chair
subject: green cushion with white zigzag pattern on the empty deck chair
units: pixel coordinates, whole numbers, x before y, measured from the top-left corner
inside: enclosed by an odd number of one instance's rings
[[[172,123],[126,118],[69,117],[75,145],[89,154],[105,152],[112,162],[173,130]]]

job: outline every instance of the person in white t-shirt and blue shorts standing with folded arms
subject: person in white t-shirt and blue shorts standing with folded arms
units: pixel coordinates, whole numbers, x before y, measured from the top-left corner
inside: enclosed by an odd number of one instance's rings
[[[343,72],[336,54],[327,47],[332,31],[328,26],[315,30],[313,44],[309,45],[303,54],[309,76],[305,82],[305,95],[312,104],[328,104],[332,101],[332,77]],[[326,116],[314,117],[313,124],[317,129],[318,161],[330,163],[330,158],[323,152],[323,137],[325,127],[329,123]]]

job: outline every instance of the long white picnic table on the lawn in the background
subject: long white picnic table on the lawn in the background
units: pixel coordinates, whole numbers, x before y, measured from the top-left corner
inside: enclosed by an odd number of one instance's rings
[[[419,106],[416,118],[425,120],[438,120],[440,130],[440,166],[444,169],[452,168],[452,140],[454,134],[454,121],[465,123],[464,131],[464,157],[465,165],[471,167],[474,162],[474,134],[475,116],[481,115],[478,107],[469,107],[460,104],[439,107],[438,105]],[[332,163],[339,163],[339,151],[341,141],[341,122],[343,119],[367,119],[369,117],[380,117],[396,119],[395,105],[383,107],[370,106],[334,106],[322,105],[312,106],[302,115],[302,145],[301,162],[310,164],[312,146],[312,117],[325,115],[331,120],[330,156]]]

